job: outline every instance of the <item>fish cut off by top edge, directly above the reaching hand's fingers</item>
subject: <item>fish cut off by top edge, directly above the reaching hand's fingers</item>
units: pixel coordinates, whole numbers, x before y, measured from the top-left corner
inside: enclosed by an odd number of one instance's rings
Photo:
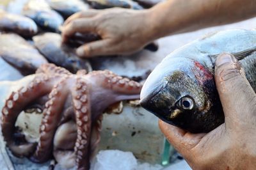
[[[50,0],[48,3],[53,10],[60,13],[65,19],[76,12],[88,10],[90,8],[88,4],[81,0]]]

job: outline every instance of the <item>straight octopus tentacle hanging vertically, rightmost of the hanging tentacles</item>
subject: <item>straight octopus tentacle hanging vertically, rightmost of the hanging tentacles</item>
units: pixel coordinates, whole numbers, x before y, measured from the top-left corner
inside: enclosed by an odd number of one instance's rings
[[[78,78],[73,91],[73,105],[76,113],[77,139],[74,147],[77,169],[89,169],[88,146],[90,144],[91,111],[88,87],[83,79]]]

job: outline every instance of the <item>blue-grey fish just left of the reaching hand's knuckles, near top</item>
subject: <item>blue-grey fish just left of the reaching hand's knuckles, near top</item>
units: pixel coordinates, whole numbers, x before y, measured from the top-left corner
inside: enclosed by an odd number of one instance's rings
[[[34,20],[45,31],[60,32],[59,28],[64,21],[44,0],[28,1],[23,7],[22,14]]]

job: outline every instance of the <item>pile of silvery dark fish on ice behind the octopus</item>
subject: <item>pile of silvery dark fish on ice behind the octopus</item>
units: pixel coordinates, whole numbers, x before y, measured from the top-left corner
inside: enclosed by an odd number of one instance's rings
[[[61,26],[70,15],[89,8],[150,8],[161,0],[13,0],[0,8],[0,57],[22,75],[34,73],[43,63],[54,63],[76,73],[92,66],[88,59],[78,58],[76,47],[99,40],[99,35],[77,35],[61,43]],[[163,1],[163,0],[162,0]],[[145,49],[156,51],[156,43]]]

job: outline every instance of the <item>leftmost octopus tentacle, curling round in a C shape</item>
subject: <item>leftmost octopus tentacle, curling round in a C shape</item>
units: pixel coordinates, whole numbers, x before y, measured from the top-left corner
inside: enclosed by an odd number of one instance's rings
[[[6,100],[2,109],[1,127],[4,140],[18,157],[27,156],[34,150],[33,144],[22,144],[17,146],[13,134],[15,132],[15,121],[20,112],[36,98],[40,98],[51,91],[53,86],[52,77],[40,75],[31,81],[28,87],[22,87],[17,92],[13,92]],[[49,83],[52,82],[52,83]]]

